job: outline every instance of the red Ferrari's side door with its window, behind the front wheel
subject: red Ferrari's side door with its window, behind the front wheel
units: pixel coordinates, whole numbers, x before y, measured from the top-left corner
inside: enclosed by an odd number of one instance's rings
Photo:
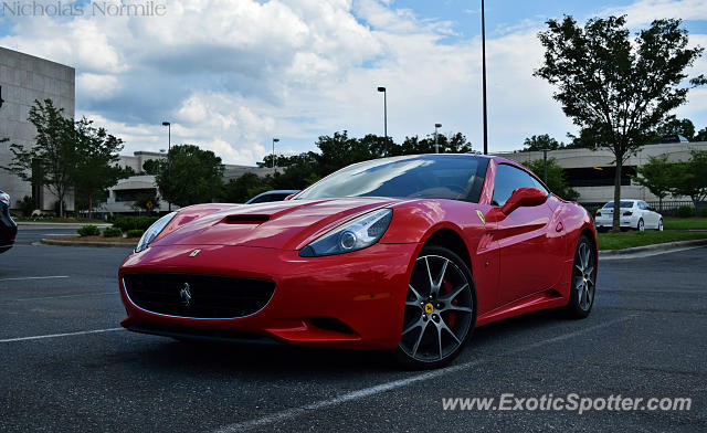
[[[521,187],[549,191],[531,175],[515,166],[500,163],[496,169],[493,205],[503,207],[513,191]],[[518,208],[498,221],[496,239],[500,252],[499,304],[548,288],[557,274],[557,254],[549,251],[552,209],[547,204]]]

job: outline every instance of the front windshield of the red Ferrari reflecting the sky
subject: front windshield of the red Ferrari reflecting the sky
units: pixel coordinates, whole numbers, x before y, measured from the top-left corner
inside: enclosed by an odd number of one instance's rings
[[[488,159],[423,155],[359,162],[327,176],[298,199],[398,197],[478,202]]]

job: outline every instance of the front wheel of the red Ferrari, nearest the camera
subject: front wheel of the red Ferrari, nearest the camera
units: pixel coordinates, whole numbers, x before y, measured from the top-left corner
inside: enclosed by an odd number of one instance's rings
[[[476,286],[466,263],[443,246],[424,246],[413,266],[393,353],[409,369],[439,368],[460,355],[474,331]]]

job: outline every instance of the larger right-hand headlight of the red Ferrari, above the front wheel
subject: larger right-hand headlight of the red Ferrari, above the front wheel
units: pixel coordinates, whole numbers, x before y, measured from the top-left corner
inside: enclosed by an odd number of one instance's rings
[[[392,209],[366,213],[319,236],[302,249],[299,256],[319,257],[369,247],[383,236],[392,218]]]

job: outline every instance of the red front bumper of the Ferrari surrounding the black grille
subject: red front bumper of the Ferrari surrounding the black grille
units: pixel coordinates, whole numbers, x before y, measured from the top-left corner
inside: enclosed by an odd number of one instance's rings
[[[131,254],[120,266],[120,296],[128,315],[120,325],[167,336],[268,337],[303,346],[393,349],[402,330],[409,272],[420,247],[376,244],[354,253],[299,257],[297,251],[262,247],[150,246]],[[196,249],[200,253],[190,256]],[[133,303],[123,282],[123,275],[130,272],[270,279],[276,288],[270,303],[251,316],[172,317]]]

